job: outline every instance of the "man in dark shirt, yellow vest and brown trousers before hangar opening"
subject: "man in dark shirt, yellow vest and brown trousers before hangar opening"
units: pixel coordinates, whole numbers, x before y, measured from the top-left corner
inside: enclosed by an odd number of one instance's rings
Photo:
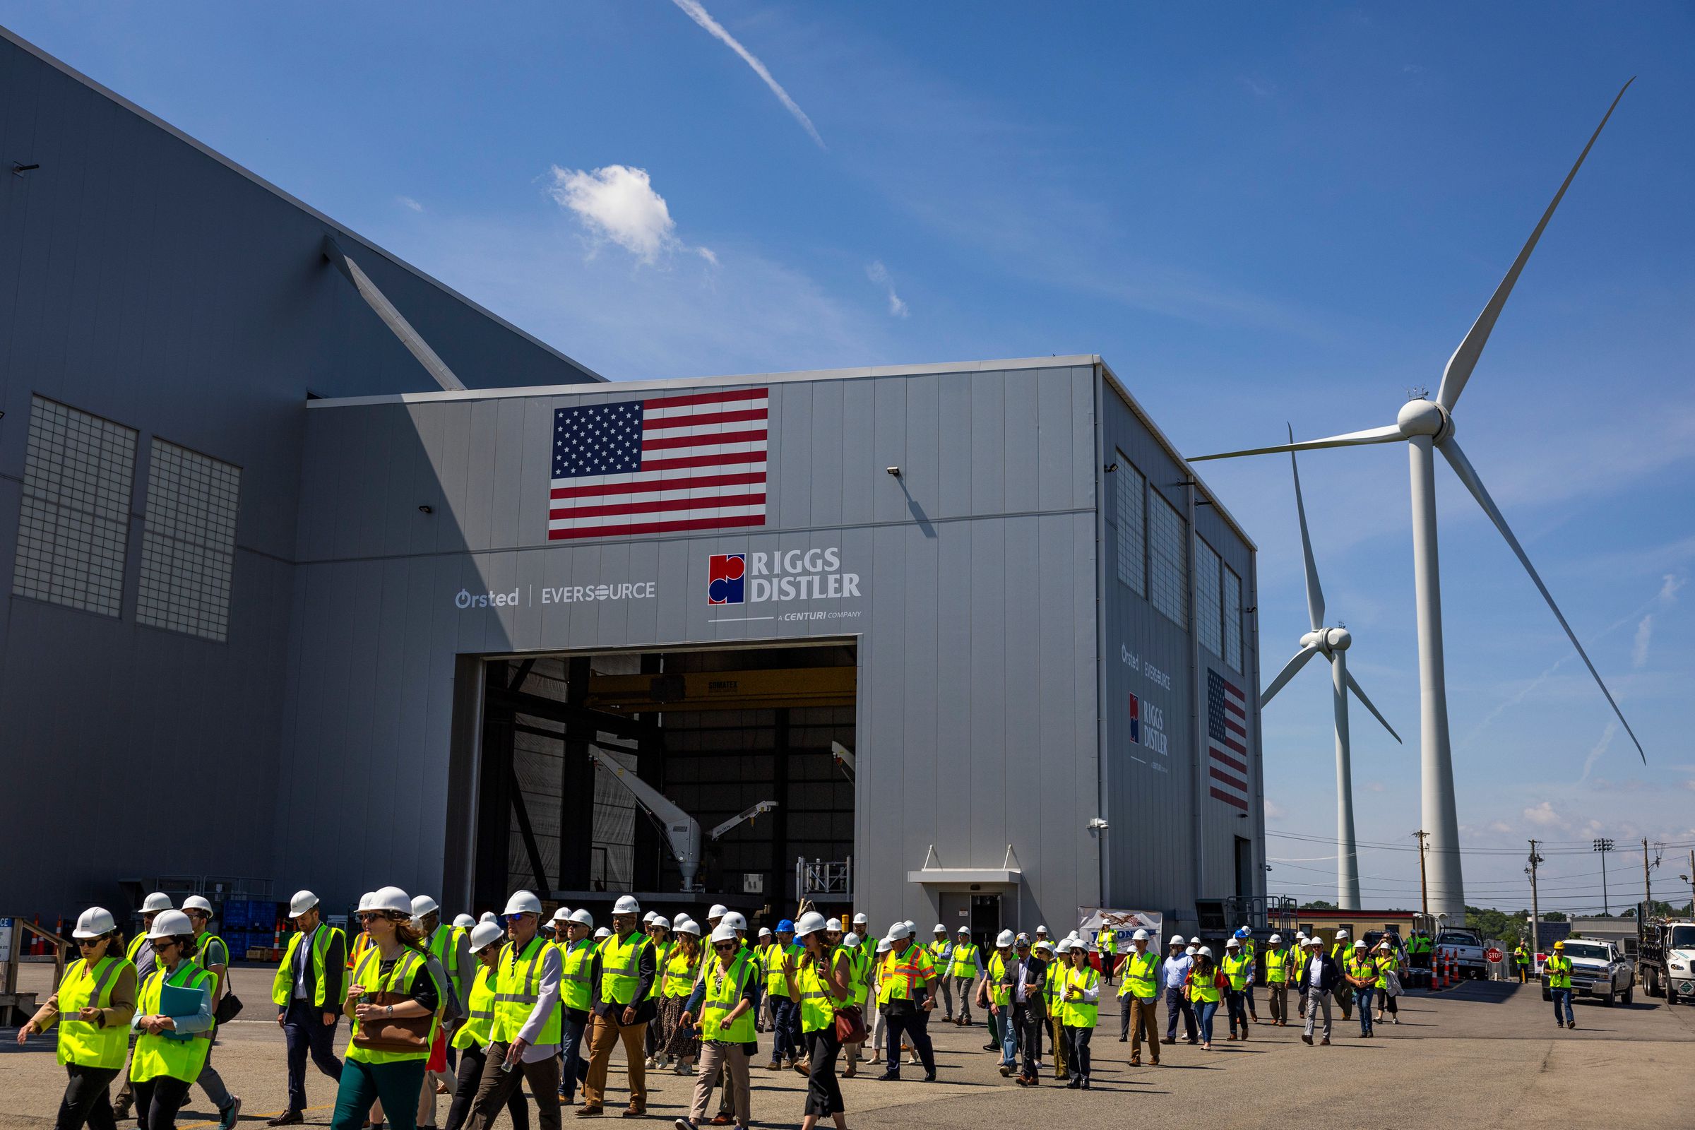
[[[647,1023],[656,1011],[653,988],[659,967],[653,952],[653,939],[636,928],[639,915],[641,903],[629,895],[620,895],[612,903],[614,933],[607,935],[595,952],[590,972],[595,988],[595,1020],[593,1033],[588,1039],[588,1079],[583,1081],[583,1105],[576,1108],[580,1116],[602,1111],[607,1067],[612,1064],[612,1049],[619,1044],[624,1045],[631,1088],[631,1105],[625,1115],[639,1118],[647,1113],[647,1069],[642,1064],[642,1042],[647,1039]],[[486,1127],[476,1130],[486,1130]]]

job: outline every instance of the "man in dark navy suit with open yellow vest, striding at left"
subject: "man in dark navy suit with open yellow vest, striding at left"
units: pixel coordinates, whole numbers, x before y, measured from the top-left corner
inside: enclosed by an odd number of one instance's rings
[[[271,978],[276,1023],[288,1044],[288,1106],[266,1122],[270,1127],[305,1122],[308,1052],[317,1069],[337,1083],[342,1069],[336,1059],[336,1020],[347,984],[347,935],[320,920],[312,891],[295,891],[288,900],[288,922],[295,932]]]

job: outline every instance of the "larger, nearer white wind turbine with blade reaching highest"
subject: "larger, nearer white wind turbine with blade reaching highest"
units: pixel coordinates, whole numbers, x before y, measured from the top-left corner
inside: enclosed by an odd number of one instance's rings
[[[1436,452],[1441,451],[1453,466],[1454,474],[1464,483],[1471,496],[1476,498],[1478,505],[1500,530],[1500,535],[1507,539],[1507,546],[1517,554],[1519,562],[1524,571],[1531,574],[1531,581],[1536,590],[1548,601],[1548,607],[1554,612],[1554,618],[1559,620],[1559,627],[1564,629],[1566,639],[1576,647],[1578,656],[1583,659],[1583,666],[1588,667],[1590,674],[1595,676],[1600,693],[1607,696],[1607,703],[1612,706],[1614,713],[1619,715],[1619,722],[1624,725],[1624,732],[1631,735],[1636,742],[1636,752],[1642,757],[1642,764],[1648,764],[1648,756],[1642,752],[1642,744],[1636,739],[1636,732],[1631,730],[1631,723],[1624,720],[1624,712],[1619,710],[1619,703],[1614,701],[1612,693],[1602,681],[1600,673],[1595,664],[1590,662],[1588,654],[1583,651],[1583,644],[1578,642],[1576,634],[1571,625],[1566,623],[1564,615],[1559,612],[1559,605],[1554,603],[1553,595],[1549,595],[1548,586],[1542,584],[1542,578],[1536,574],[1536,568],[1531,564],[1529,556],[1526,556],[1524,547],[1519,539],[1514,537],[1512,529],[1507,527],[1507,518],[1502,517],[1500,508],[1490,493],[1483,488],[1483,479],[1478,478],[1476,469],[1471,461],[1466,459],[1459,444],[1454,440],[1454,405],[1459,402],[1459,393],[1464,391],[1466,381],[1471,379],[1471,369],[1476,368],[1478,357],[1483,354],[1483,346],[1488,344],[1490,330],[1495,329],[1495,319],[1500,317],[1502,307],[1507,305],[1507,296],[1512,295],[1514,283],[1519,281],[1519,273],[1524,271],[1524,264],[1529,261],[1531,252],[1536,251],[1536,241],[1542,237],[1542,229],[1554,217],[1554,208],[1559,207],[1559,200],[1566,195],[1566,188],[1571,186],[1571,180],[1583,168],[1583,159],[1588,156],[1590,149],[1595,147],[1595,139],[1600,137],[1600,130],[1607,127],[1607,119],[1619,107],[1619,98],[1624,98],[1624,91],[1634,83],[1632,78],[1626,83],[1619,95],[1607,107],[1607,114],[1602,117],[1600,125],[1590,136],[1588,144],[1583,146],[1583,152],[1578,154],[1576,164],[1566,173],[1566,180],[1559,185],[1559,191],[1554,193],[1553,202],[1542,213],[1541,222],[1536,230],[1531,232],[1531,239],[1526,241],[1524,249],[1519,258],[1514,259],[1512,268],[1509,268],[1507,276],[1495,288],[1490,296],[1488,305],[1483,307],[1483,313],[1478,320],[1471,324],[1459,347],[1454,349],[1454,356],[1448,359],[1448,368],[1442,371],[1442,385],[1436,393],[1436,402],[1429,400],[1410,400],[1402,405],[1395,417],[1395,424],[1388,427],[1373,427],[1363,432],[1348,432],[1344,435],[1331,435],[1327,439],[1309,439],[1302,442],[1278,444],[1276,447],[1253,447],[1248,451],[1227,451],[1215,456],[1197,456],[1190,463],[1200,463],[1203,459],[1229,459],[1234,456],[1259,456],[1278,451],[1314,451],[1319,447],[1354,447],[1361,444],[1390,444],[1397,440],[1407,442],[1407,459],[1412,473],[1412,576],[1414,576],[1414,598],[1417,605],[1419,620],[1419,764],[1420,764],[1420,796],[1424,803],[1424,827],[1431,832],[1431,910],[1436,913],[1446,913],[1451,922],[1461,922],[1464,918],[1464,884],[1459,867],[1459,818],[1454,810],[1454,762],[1453,751],[1448,740],[1448,688],[1442,676],[1442,590],[1441,576],[1437,573],[1436,561]]]

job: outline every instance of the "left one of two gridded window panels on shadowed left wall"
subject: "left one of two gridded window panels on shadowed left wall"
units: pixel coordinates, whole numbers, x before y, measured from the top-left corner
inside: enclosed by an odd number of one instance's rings
[[[12,591],[117,617],[136,429],[31,398]]]

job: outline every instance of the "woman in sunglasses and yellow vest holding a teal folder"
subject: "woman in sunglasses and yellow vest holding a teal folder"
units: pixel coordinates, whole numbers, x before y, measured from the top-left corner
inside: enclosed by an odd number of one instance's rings
[[[129,1084],[141,1130],[175,1130],[188,1086],[200,1077],[212,1050],[212,974],[195,964],[195,927],[180,910],[161,911],[147,930],[158,959],[136,994],[136,1054]],[[198,989],[200,1006],[166,1015],[166,988]]]

